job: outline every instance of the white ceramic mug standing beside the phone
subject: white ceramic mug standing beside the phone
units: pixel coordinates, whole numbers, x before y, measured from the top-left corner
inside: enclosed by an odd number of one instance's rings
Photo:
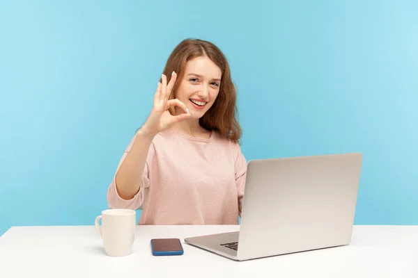
[[[102,219],[102,226],[99,220]],[[107,209],[95,218],[95,227],[103,239],[108,256],[127,256],[132,253],[137,212],[132,209]]]

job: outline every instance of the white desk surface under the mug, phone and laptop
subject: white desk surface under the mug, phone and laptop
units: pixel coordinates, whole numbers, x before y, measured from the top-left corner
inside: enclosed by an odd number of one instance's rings
[[[238,226],[137,226],[134,253],[104,254],[94,226],[12,227],[0,237],[0,277],[418,277],[418,226],[355,226],[351,245],[232,261],[183,243],[183,256],[153,256],[151,238]]]

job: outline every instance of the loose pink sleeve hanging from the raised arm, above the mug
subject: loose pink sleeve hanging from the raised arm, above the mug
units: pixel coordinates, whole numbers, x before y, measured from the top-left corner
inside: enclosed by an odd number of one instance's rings
[[[150,186],[150,179],[148,177],[148,172],[150,172],[150,165],[152,165],[152,159],[154,155],[154,145],[150,145],[150,149],[148,151],[148,155],[146,158],[146,163],[144,167],[144,172],[142,173],[141,178],[141,187],[136,195],[132,197],[132,199],[123,199],[118,195],[118,190],[116,186],[116,174],[118,173],[119,168],[121,167],[123,161],[125,160],[127,154],[129,154],[130,149],[132,145],[134,144],[134,140],[137,137],[134,136],[132,140],[130,141],[130,144],[125,149],[125,152],[123,152],[123,156],[121,160],[118,163],[118,167],[116,168],[116,172],[114,174],[114,177],[109,185],[109,188],[107,189],[107,204],[109,205],[109,208],[129,208],[133,210],[137,210],[140,206],[142,206],[142,203],[144,202],[144,190],[145,188],[148,188]],[[138,174],[141,174],[141,170],[138,169]]]

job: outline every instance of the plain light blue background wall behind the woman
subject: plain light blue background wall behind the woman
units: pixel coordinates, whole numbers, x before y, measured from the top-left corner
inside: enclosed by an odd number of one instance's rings
[[[412,0],[1,1],[0,234],[93,224],[184,38],[229,59],[247,159],[362,152],[355,224],[418,224],[417,15]]]

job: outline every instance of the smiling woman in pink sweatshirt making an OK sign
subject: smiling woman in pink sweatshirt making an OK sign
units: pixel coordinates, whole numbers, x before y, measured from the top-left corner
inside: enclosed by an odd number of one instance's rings
[[[142,206],[139,224],[237,224],[247,161],[235,99],[222,52],[204,40],[180,42],[118,164],[109,207]]]

